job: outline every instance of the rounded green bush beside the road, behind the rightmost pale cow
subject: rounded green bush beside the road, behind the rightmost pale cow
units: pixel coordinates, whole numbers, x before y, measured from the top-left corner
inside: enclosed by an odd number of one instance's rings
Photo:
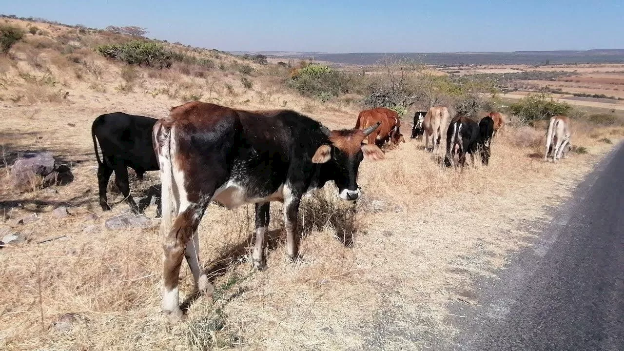
[[[550,119],[552,116],[566,115],[572,106],[565,102],[556,102],[546,94],[532,94],[509,106],[512,114],[523,117],[527,121]]]

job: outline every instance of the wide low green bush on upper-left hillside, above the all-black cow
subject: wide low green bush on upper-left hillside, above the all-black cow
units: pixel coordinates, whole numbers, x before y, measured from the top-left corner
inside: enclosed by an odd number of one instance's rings
[[[156,42],[130,41],[124,44],[100,45],[97,52],[109,59],[149,67],[171,67],[171,53]]]

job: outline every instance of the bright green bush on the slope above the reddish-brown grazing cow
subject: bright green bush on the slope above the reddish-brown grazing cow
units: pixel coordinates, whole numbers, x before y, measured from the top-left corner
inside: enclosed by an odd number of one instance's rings
[[[293,71],[288,85],[303,96],[316,97],[323,102],[349,92],[346,77],[323,64],[310,64]]]

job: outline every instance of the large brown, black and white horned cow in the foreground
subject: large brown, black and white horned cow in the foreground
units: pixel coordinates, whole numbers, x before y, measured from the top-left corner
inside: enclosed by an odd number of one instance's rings
[[[162,308],[170,322],[183,317],[178,306],[178,273],[186,257],[195,289],[213,287],[200,272],[197,226],[208,203],[233,209],[255,204],[252,261],[263,269],[269,204],[283,202],[286,251],[296,260],[301,197],[333,181],[338,197],[356,200],[363,159],[380,160],[375,144],[363,144],[381,122],[366,129],[329,131],[295,111],[243,111],[204,102],[173,107],[154,126],[154,151],[162,180]]]

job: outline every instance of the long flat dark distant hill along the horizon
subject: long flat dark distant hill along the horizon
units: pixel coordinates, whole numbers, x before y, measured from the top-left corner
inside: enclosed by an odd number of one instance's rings
[[[624,63],[624,49],[592,49],[586,51],[514,51],[514,52],[353,52],[329,54],[326,52],[256,51],[251,53],[293,59],[314,59],[346,65],[373,65],[388,56],[422,59],[427,64],[572,64]]]

